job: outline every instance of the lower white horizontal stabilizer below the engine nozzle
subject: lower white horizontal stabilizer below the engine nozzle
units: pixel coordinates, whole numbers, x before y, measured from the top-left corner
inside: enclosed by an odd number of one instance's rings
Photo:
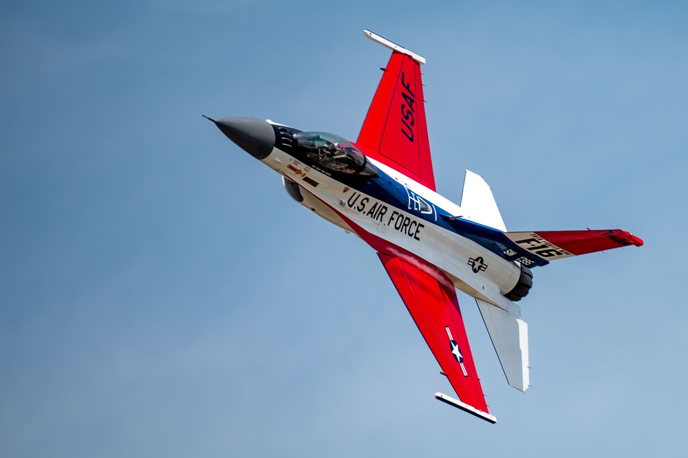
[[[480,309],[497,358],[502,364],[506,381],[515,389],[526,392],[528,389],[528,324],[521,320],[521,309],[516,304],[504,310],[478,298]],[[504,305],[504,304],[503,304]]]

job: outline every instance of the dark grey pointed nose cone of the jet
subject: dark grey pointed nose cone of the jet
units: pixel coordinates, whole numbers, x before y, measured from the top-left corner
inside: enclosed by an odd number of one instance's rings
[[[275,147],[272,124],[255,118],[224,118],[211,120],[219,130],[256,159],[265,159]]]

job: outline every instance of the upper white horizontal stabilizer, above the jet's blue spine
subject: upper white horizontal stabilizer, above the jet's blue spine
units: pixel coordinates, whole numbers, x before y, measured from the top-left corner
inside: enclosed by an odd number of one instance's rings
[[[480,175],[466,171],[464,190],[461,195],[463,217],[475,223],[506,232],[504,220],[497,208],[490,186]]]

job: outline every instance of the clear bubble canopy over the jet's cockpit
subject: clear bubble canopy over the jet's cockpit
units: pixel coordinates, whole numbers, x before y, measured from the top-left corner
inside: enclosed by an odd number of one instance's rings
[[[294,140],[301,153],[329,171],[354,174],[365,168],[365,155],[332,133],[299,132],[294,133]]]

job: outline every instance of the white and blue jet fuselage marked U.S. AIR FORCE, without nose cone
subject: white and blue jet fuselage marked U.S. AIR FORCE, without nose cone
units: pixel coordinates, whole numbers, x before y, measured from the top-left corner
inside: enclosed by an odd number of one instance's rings
[[[297,201],[320,217],[378,251],[396,250],[409,262],[438,268],[455,287],[484,301],[499,305],[517,285],[520,263],[499,257],[453,228],[452,221],[462,217],[458,205],[367,157],[360,176],[338,173],[297,149],[297,144],[285,147],[278,141],[260,160],[288,180],[286,186],[297,184]],[[476,233],[495,231],[463,221],[475,226]]]

